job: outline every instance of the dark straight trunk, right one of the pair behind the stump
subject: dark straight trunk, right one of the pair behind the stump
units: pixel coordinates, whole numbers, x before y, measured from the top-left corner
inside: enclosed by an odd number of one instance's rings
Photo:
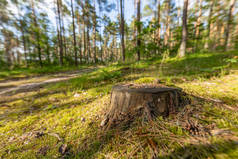
[[[140,24],[140,0],[137,0],[137,60],[140,61],[140,48],[141,48],[141,38],[140,38],[140,32],[141,32],[141,24]]]

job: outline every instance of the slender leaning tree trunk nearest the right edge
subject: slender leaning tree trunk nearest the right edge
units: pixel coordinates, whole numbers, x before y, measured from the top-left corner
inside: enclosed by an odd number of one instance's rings
[[[233,21],[232,13],[234,12],[235,2],[236,2],[236,0],[231,0],[230,1],[230,7],[229,7],[229,12],[228,12],[228,20],[227,20],[227,27],[226,27],[226,31],[225,31],[224,51],[228,50],[228,44],[229,44],[228,40],[229,40],[229,36],[230,36],[231,24],[232,24],[232,21]]]

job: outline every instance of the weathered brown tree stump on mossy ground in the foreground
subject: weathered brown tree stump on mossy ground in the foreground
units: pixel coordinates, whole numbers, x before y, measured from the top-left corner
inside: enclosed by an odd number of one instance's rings
[[[133,121],[138,116],[143,116],[147,121],[157,116],[166,117],[185,104],[184,93],[178,88],[116,85],[101,126],[110,128]]]

